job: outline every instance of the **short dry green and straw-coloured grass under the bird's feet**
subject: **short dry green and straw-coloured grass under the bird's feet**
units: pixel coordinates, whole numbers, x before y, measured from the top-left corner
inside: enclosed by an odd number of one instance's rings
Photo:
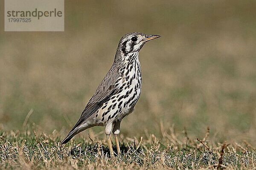
[[[33,134],[31,134],[33,133]],[[110,158],[108,144],[95,134],[60,144],[59,133],[0,132],[1,169],[254,169],[256,148],[210,142],[209,129],[201,139],[171,128],[157,138],[121,137],[122,156]],[[116,152],[116,147],[114,147]]]

